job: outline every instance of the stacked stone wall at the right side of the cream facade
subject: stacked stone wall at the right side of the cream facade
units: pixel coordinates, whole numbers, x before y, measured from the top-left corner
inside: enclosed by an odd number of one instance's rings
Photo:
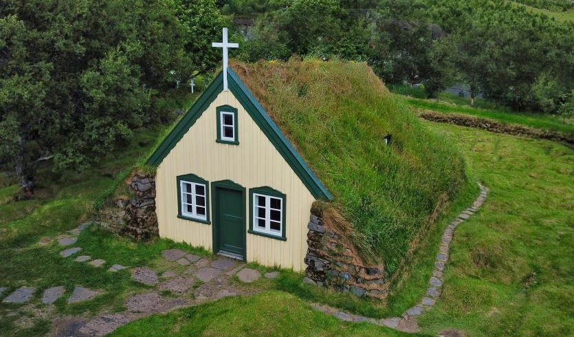
[[[305,283],[326,285],[357,296],[385,299],[388,292],[384,265],[364,263],[341,230],[324,224],[322,212],[312,210],[307,228]]]

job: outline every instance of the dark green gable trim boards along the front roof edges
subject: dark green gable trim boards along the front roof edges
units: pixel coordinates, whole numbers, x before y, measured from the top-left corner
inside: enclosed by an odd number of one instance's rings
[[[327,188],[325,188],[313,171],[311,171],[311,168],[307,166],[305,160],[297,153],[294,146],[285,138],[285,135],[283,135],[275,122],[267,115],[263,107],[261,107],[249,89],[245,87],[241,79],[239,79],[239,76],[237,76],[231,68],[228,68],[228,85],[235,98],[239,100],[239,103],[245,108],[247,113],[249,113],[261,131],[265,133],[287,164],[291,166],[291,169],[296,173],[301,182],[305,184],[311,195],[316,199],[332,200],[333,196],[331,193],[327,191]],[[177,123],[173,131],[169,133],[166,140],[164,140],[153,155],[151,155],[148,164],[159,165],[222,90],[223,72],[220,72],[206,91],[199,96],[186,115]]]

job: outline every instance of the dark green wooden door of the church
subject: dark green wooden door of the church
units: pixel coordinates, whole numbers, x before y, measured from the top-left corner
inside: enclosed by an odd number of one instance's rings
[[[219,250],[245,257],[243,192],[217,188]]]

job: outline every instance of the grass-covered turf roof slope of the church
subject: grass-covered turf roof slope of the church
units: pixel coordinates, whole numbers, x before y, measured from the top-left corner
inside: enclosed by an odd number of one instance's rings
[[[333,194],[362,255],[395,272],[439,200],[464,179],[460,153],[364,63],[232,67]]]

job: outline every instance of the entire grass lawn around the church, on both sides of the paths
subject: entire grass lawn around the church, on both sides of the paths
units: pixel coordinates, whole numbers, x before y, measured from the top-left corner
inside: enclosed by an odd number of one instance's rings
[[[397,316],[423,296],[441,232],[478,195],[472,182],[491,189],[485,206],[456,230],[451,261],[445,269],[444,294],[432,311],[419,318],[421,335],[446,328],[468,336],[571,336],[574,334],[574,149],[555,142],[423,122],[424,127],[456,142],[467,158],[470,183],[462,186],[445,215],[437,220],[415,251],[403,281],[393,284],[388,305],[349,294],[303,285],[302,274],[283,270],[276,280],[260,280],[263,292],[252,297],[223,298],[136,320],[113,336],[406,336],[367,323],[345,323],[312,310],[317,302],[373,318]],[[30,305],[0,302],[0,336],[44,336],[50,321],[37,311],[43,290],[75,285],[104,293],[91,301],[68,305],[66,296],[52,315],[94,316],[120,312],[131,294],[149,287],[132,281],[129,271],[107,272],[113,263],[130,267],[167,266],[160,252],[201,249],[160,239],[134,243],[95,228],[82,232],[80,254],[104,259],[102,268],[60,257],[54,241],[42,237],[76,228],[87,219],[94,199],[113,178],[153,146],[157,131],[141,131],[123,153],[84,173],[52,173],[38,179],[37,199],[12,202],[10,178],[0,177],[0,286],[12,290],[36,287]],[[258,265],[250,265],[266,271]],[[182,267],[183,268],[183,267]],[[23,326],[22,317],[34,317]]]

